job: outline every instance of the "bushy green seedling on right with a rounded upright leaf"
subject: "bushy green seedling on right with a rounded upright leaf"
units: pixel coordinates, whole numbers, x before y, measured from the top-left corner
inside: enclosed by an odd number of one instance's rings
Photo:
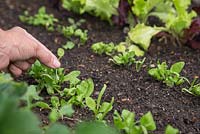
[[[155,79],[163,81],[167,86],[173,87],[174,85],[180,85],[188,81],[187,78],[180,76],[184,65],[184,62],[177,62],[168,69],[166,62],[162,62],[161,64],[158,62],[157,68],[150,69],[148,73]]]

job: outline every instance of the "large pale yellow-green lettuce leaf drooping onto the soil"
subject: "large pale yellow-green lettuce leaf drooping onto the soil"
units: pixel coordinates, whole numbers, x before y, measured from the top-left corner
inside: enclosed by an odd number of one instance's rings
[[[161,28],[150,27],[144,24],[138,24],[135,28],[132,28],[128,33],[130,40],[138,44],[145,51],[148,50],[150,46],[151,38],[158,34]]]

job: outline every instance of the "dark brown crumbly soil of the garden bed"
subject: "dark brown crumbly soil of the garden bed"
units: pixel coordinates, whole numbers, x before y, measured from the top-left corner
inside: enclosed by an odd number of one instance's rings
[[[90,46],[98,41],[115,42],[123,41],[125,35],[120,27],[110,26],[97,18],[89,15],[78,16],[66,11],[58,11],[52,8],[47,0],[1,0],[0,1],[0,27],[8,29],[13,26],[21,26],[27,29],[37,39],[44,43],[52,52],[66,41],[59,33],[47,32],[42,27],[33,27],[21,23],[18,15],[24,10],[32,13],[45,5],[48,12],[55,14],[61,23],[67,24],[67,18],[85,18],[86,24],[83,28],[89,30],[89,40],[85,46],[76,47],[67,51],[62,60],[62,66],[66,70],[80,70],[81,78],[92,78],[95,83],[96,92],[101,89],[104,83],[107,84],[104,100],[109,101],[115,97],[114,109],[121,111],[126,108],[136,113],[140,118],[144,113],[151,111],[157,123],[157,130],[153,133],[161,134],[167,124],[180,129],[183,134],[200,133],[200,98],[181,92],[181,87],[169,88],[161,82],[155,81],[148,74],[149,65],[156,65],[157,60],[167,61],[170,65],[177,61],[185,61],[186,66],[182,75],[193,79],[200,76],[200,53],[188,47],[172,46],[172,43],[152,44],[150,51],[146,54],[147,60],[142,70],[137,73],[134,66],[119,67],[108,62],[106,56],[98,56],[92,53]],[[31,83],[32,79],[26,75],[22,78]],[[185,85],[183,85],[185,86]],[[95,96],[96,94],[95,93]],[[48,97],[48,96],[46,96]],[[87,109],[76,108],[75,119],[92,118]],[[41,119],[46,122],[48,111],[35,110]],[[108,116],[108,120],[112,115]],[[76,120],[65,119],[63,123],[72,126]],[[47,122],[46,122],[47,123]]]

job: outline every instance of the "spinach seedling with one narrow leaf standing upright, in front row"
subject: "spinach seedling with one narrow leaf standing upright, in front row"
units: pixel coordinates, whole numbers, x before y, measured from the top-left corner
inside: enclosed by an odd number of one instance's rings
[[[87,97],[86,98],[86,105],[88,108],[94,112],[96,120],[103,121],[104,117],[107,115],[109,111],[113,108],[114,97],[112,97],[111,102],[102,102],[101,99],[106,90],[106,85],[103,86],[102,90],[100,91],[97,100]]]

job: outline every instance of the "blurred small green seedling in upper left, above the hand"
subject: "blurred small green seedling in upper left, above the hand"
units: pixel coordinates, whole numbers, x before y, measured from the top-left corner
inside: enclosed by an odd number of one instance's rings
[[[27,24],[34,26],[45,26],[47,30],[54,31],[55,23],[58,19],[54,18],[53,14],[47,14],[46,8],[39,8],[37,14],[30,16],[28,11],[24,12],[24,15],[20,15],[19,19]]]

